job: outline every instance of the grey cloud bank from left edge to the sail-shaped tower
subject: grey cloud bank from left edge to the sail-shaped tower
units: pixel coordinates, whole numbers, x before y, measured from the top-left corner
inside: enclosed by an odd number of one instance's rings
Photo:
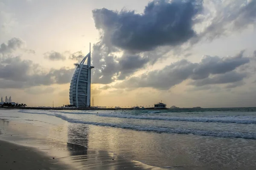
[[[38,85],[69,83],[74,69],[60,68],[49,71],[20,57],[0,59],[0,88],[27,88]]]

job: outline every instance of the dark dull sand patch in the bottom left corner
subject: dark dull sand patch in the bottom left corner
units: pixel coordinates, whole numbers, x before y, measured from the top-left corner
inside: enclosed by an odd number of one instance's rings
[[[68,165],[58,164],[43,152],[32,147],[24,147],[0,141],[1,170],[71,170]]]

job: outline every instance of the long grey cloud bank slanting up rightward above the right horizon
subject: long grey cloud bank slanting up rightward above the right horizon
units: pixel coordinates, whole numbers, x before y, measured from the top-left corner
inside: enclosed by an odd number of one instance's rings
[[[199,63],[192,63],[186,59],[174,62],[162,70],[151,71],[139,77],[131,77],[114,88],[143,88],[151,87],[168,90],[186,79],[192,79],[194,86],[212,84],[226,84],[239,82],[247,77],[246,72],[235,71],[241,65],[250,62],[247,57],[242,57],[243,52],[235,57],[204,57]],[[230,86],[231,88],[231,86]]]

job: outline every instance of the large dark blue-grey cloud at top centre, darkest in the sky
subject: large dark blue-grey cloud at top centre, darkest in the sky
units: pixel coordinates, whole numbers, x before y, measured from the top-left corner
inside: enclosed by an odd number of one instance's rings
[[[130,51],[149,51],[194,37],[193,18],[201,8],[201,0],[153,0],[143,14],[102,8],[93,10],[93,19],[102,42]]]

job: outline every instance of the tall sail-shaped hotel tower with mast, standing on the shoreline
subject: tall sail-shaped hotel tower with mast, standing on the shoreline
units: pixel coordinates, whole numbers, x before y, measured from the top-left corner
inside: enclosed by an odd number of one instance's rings
[[[87,65],[84,65],[87,59]],[[76,65],[75,73],[70,83],[70,105],[77,108],[90,107],[90,84],[91,84],[91,51],[84,57],[80,64]]]

